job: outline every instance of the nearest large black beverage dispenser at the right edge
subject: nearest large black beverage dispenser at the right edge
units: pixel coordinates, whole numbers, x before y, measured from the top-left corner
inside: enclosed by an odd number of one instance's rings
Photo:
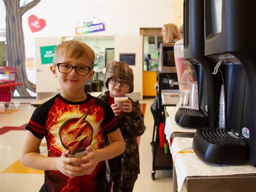
[[[225,110],[217,117],[225,128],[198,129],[193,149],[209,163],[256,165],[256,3],[211,0],[204,7],[205,55],[217,62],[214,74],[221,74],[218,104]]]

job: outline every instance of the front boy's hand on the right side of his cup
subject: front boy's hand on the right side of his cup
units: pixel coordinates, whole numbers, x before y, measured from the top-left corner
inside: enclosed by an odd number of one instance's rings
[[[86,175],[90,175],[93,173],[96,165],[99,163],[99,154],[93,149],[92,146],[88,146],[86,150],[88,151],[88,155],[82,158],[81,167],[86,170]]]

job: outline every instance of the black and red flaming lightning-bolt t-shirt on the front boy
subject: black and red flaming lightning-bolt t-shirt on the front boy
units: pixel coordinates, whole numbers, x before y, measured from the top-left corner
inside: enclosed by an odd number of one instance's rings
[[[118,129],[118,121],[111,106],[99,98],[87,94],[86,100],[71,102],[57,94],[35,109],[26,129],[37,138],[46,137],[49,157],[60,157],[76,147],[103,148],[104,135]],[[49,191],[102,191],[104,175],[102,161],[91,175],[74,178],[45,170],[45,182]]]

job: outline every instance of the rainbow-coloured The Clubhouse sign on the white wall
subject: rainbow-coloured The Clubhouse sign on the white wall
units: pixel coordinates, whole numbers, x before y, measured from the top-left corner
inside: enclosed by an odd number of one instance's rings
[[[87,33],[95,33],[105,31],[105,25],[97,17],[81,20],[76,25],[76,34],[82,35]]]

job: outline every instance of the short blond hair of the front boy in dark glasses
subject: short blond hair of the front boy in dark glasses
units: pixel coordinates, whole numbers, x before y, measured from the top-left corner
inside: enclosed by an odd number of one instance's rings
[[[71,58],[85,58],[88,59],[90,66],[93,69],[95,53],[88,45],[79,40],[68,40],[59,44],[54,51],[53,65],[57,65],[57,59],[63,55]]]

